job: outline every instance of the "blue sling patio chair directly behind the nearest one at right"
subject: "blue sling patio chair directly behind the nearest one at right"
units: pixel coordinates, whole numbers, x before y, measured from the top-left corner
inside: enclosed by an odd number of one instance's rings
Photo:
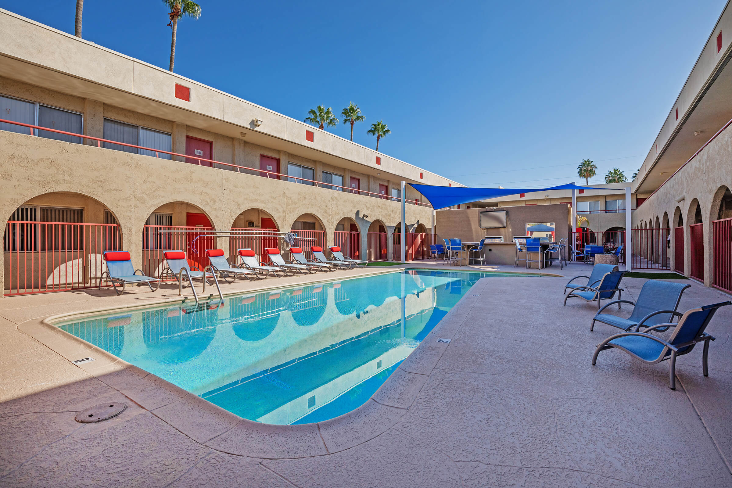
[[[594,330],[595,321],[607,323],[608,326],[617,327],[624,331],[630,331],[634,327],[636,331],[640,331],[641,327],[657,326],[660,323],[671,322],[673,317],[681,317],[681,314],[676,312],[676,307],[679,307],[681,294],[684,293],[684,290],[690,288],[690,286],[681,283],[660,281],[658,279],[649,279],[649,281],[643,284],[641,293],[638,294],[638,300],[635,302],[630,300],[611,301],[609,304],[605,304],[601,309],[597,310],[597,315],[592,318],[590,330]],[[621,318],[617,315],[602,313],[602,310],[610,307],[612,304],[618,304],[618,308],[620,308],[620,304],[631,304],[633,305],[633,312],[629,318]],[[668,330],[668,327],[654,330],[665,332]]]

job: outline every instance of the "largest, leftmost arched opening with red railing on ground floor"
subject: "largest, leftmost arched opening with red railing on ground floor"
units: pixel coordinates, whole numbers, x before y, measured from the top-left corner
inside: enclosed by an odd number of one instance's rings
[[[106,271],[104,252],[121,250],[119,223],[104,203],[75,192],[37,195],[5,225],[3,293],[96,287]]]

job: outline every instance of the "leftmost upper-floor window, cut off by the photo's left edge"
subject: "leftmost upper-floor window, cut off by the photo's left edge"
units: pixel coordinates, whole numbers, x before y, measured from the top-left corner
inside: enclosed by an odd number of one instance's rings
[[[63,130],[81,134],[83,130],[83,116],[81,113],[61,110],[60,108],[48,107],[26,100],[18,100],[10,97],[0,97],[0,115],[2,119],[21,122],[23,124],[40,125],[49,129]],[[31,129],[13,124],[0,124],[0,129],[10,132],[30,134]],[[81,138],[74,135],[59,134],[47,130],[34,129],[34,135],[42,138],[65,140],[69,143],[81,144]]]

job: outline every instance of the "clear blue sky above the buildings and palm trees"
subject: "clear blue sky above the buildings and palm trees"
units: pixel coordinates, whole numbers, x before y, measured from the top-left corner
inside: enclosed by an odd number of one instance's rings
[[[201,0],[176,72],[300,120],[352,100],[356,142],[383,119],[382,152],[469,186],[579,181],[584,158],[600,183],[641,164],[725,3]],[[74,0],[0,6],[73,33]],[[83,37],[167,68],[167,14],[86,0]]]

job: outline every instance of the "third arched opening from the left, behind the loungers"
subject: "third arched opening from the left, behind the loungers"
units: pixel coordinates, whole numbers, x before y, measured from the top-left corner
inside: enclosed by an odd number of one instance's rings
[[[275,217],[262,209],[247,209],[236,216],[231,225],[229,255],[233,263],[238,259],[238,249],[253,249],[258,260],[262,260],[264,249],[279,247],[280,225]]]

